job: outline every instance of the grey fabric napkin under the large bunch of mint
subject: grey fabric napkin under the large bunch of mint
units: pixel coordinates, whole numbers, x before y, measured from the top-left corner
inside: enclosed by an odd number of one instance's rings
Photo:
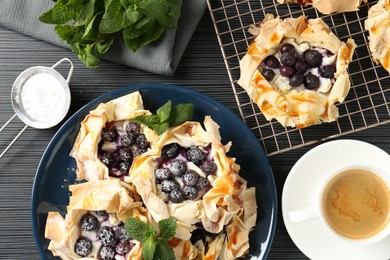
[[[57,37],[53,25],[43,24],[38,17],[49,10],[49,0],[0,0],[0,25],[14,31],[59,46],[69,46]],[[167,30],[164,36],[148,46],[131,52],[123,41],[116,40],[104,59],[125,64],[156,74],[175,73],[198,22],[206,9],[205,0],[183,0],[177,30]]]

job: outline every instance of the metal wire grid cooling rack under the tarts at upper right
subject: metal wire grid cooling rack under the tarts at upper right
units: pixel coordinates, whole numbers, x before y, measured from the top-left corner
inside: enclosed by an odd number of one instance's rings
[[[272,0],[207,0],[241,117],[268,156],[390,122],[390,75],[372,61],[368,32],[364,30],[368,9],[376,3],[363,4],[358,12],[322,15],[313,7]],[[355,40],[357,48],[349,65],[351,90],[344,103],[338,104],[340,117],[336,122],[304,129],[285,128],[275,120],[269,122],[237,84],[239,61],[254,39],[248,27],[262,20],[266,13],[283,19],[300,15],[320,17],[340,40]]]

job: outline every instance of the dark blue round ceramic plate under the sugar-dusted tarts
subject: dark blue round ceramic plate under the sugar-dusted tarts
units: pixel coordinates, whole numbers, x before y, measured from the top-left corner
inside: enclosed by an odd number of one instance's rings
[[[69,152],[81,121],[98,104],[137,90],[142,95],[144,107],[152,112],[168,100],[173,104],[192,103],[193,120],[203,122],[205,115],[211,115],[220,125],[222,143],[232,141],[228,155],[237,159],[241,166],[240,175],[249,186],[256,187],[257,225],[250,233],[250,255],[247,258],[265,259],[275,232],[277,198],[272,170],[262,147],[241,119],[225,106],[199,92],[165,84],[134,85],[105,94],[81,108],[55,134],[38,166],[32,193],[32,226],[41,258],[54,259],[47,249],[49,241],[44,235],[46,217],[49,211],[66,213],[68,185],[75,182],[76,168]]]

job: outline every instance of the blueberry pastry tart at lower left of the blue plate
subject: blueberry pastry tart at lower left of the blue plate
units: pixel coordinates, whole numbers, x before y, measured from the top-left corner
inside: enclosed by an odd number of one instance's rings
[[[71,185],[63,218],[49,212],[45,237],[49,250],[62,259],[142,259],[138,241],[124,230],[128,217],[148,223],[147,210],[134,200],[131,187],[119,179]]]

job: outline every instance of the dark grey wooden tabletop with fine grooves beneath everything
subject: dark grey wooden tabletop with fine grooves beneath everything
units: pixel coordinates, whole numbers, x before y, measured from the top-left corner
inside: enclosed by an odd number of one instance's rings
[[[172,77],[153,75],[112,62],[101,61],[98,69],[86,69],[69,50],[0,27],[0,125],[12,115],[11,87],[26,68],[51,66],[63,57],[72,59],[75,71],[70,83],[72,104],[68,117],[90,100],[125,85],[174,83],[209,95],[238,114],[225,64],[209,14],[206,12]],[[1,133],[0,149],[23,127],[16,120]],[[28,128],[0,160],[0,259],[39,259],[30,217],[31,191],[39,160],[58,127]],[[390,124],[343,138],[370,142],[390,152]],[[269,158],[278,192],[278,203],[289,170],[310,148],[307,146]],[[348,155],[346,155],[348,156]],[[290,239],[281,208],[268,259],[307,259]],[[326,245],[324,245],[326,247]]]

